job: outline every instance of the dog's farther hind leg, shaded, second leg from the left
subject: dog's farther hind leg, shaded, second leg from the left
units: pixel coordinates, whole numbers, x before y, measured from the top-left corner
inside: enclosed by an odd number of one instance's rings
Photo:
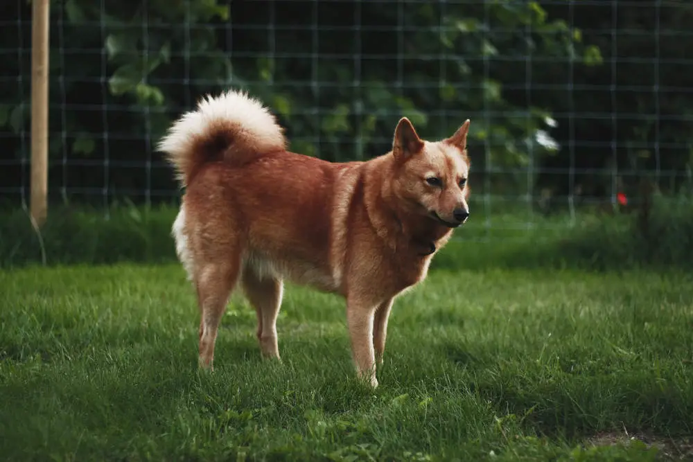
[[[252,267],[245,267],[243,292],[258,315],[257,336],[263,356],[279,359],[277,316],[283,283],[275,276],[261,276]]]

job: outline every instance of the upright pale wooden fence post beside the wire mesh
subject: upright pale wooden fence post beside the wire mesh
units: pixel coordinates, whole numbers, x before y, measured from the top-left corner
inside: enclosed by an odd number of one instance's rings
[[[31,217],[48,211],[49,1],[32,0],[31,22]]]

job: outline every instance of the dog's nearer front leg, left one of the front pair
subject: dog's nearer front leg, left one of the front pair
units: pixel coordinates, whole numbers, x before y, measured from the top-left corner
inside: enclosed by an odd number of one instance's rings
[[[358,297],[347,299],[347,325],[351,337],[351,352],[359,378],[371,387],[378,387],[376,379],[376,354],[373,348],[373,321],[376,304]]]

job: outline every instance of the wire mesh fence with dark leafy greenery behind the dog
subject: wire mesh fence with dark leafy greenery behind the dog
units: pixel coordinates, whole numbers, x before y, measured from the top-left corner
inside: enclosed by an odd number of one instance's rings
[[[0,8],[0,195],[22,206],[30,8]],[[693,163],[692,20],[666,0],[53,2],[49,195],[175,200],[155,145],[230,87],[278,114],[291,150],[332,161],[387,152],[401,116],[429,139],[471,118],[486,226],[637,201],[645,177],[675,193]]]

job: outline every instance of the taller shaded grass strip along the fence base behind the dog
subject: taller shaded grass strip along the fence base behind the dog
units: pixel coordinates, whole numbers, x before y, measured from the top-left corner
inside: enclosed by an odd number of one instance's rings
[[[693,192],[654,197],[647,229],[637,212],[611,217],[580,208],[572,220],[517,204],[487,210],[477,201],[471,209],[453,251],[436,258],[435,267],[693,270]],[[0,209],[0,268],[176,262],[170,236],[176,204],[113,204],[108,211],[55,204],[50,211],[37,233],[26,211]]]

